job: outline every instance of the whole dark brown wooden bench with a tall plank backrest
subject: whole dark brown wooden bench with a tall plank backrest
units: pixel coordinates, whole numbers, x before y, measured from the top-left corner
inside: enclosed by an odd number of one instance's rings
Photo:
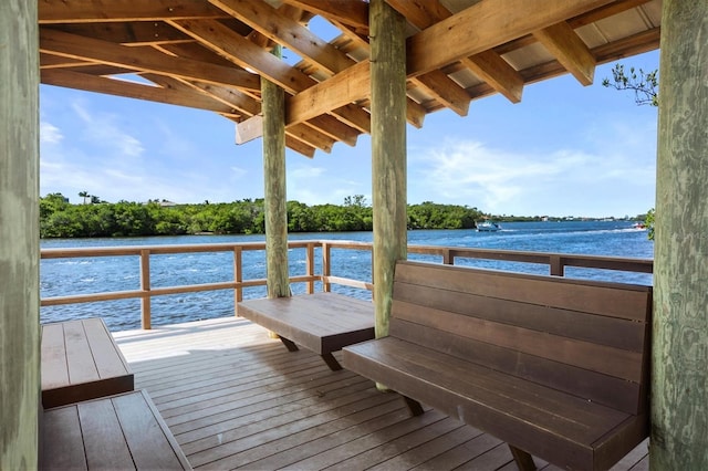
[[[648,436],[649,286],[399,262],[389,336],[344,367],[568,469]],[[523,451],[522,451],[523,450]]]

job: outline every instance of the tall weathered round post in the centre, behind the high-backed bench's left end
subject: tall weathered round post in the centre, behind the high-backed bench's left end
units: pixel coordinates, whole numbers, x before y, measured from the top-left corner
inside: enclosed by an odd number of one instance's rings
[[[405,19],[369,2],[376,336],[388,334],[396,261],[407,257]]]

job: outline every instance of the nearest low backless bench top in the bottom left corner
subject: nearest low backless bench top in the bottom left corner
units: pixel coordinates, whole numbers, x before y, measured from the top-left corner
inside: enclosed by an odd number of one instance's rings
[[[147,393],[125,393],[46,409],[42,470],[190,470]]]

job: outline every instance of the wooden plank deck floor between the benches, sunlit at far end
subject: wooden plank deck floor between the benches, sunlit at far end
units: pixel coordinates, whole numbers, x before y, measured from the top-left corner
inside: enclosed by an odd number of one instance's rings
[[[398,395],[244,320],[115,337],[195,469],[517,469],[496,438],[436,410],[410,417]],[[648,469],[647,442],[613,469]]]

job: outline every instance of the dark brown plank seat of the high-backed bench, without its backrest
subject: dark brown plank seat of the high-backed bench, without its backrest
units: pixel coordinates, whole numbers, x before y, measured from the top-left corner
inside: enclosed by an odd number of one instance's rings
[[[563,450],[573,457],[574,469],[614,456],[648,425],[646,415],[618,411],[395,337],[355,345],[344,355],[347,369],[365,371],[396,391],[415,391],[409,394],[416,400],[493,431],[514,447],[542,457]],[[416,387],[419,378],[425,378],[425,388]]]

